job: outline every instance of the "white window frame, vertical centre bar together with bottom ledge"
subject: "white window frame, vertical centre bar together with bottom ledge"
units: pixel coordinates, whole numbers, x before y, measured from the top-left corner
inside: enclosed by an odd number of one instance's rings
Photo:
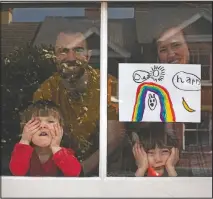
[[[78,1],[79,0],[75,0]],[[110,1],[110,0],[108,0]],[[14,2],[14,0],[13,0]],[[29,2],[29,0],[27,1]],[[84,0],[85,2],[85,0]],[[95,178],[2,177],[2,198],[211,197],[212,178],[107,177],[107,2],[101,3],[100,170]],[[201,188],[202,187],[202,188]]]

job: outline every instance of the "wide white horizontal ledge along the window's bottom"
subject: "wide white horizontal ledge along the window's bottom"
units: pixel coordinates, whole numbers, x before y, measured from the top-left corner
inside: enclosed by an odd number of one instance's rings
[[[1,186],[3,198],[212,197],[212,177],[2,177]]]

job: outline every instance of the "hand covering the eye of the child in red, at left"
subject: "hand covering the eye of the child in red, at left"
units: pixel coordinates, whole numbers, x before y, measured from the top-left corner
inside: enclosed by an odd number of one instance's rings
[[[40,129],[40,120],[38,118],[32,118],[29,120],[23,129],[20,143],[30,144],[33,135]]]

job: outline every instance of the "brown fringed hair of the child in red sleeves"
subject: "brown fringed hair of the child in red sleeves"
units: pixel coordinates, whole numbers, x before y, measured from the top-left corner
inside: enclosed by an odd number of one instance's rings
[[[38,100],[31,103],[24,111],[20,112],[20,125],[23,129],[24,125],[32,119],[32,117],[53,116],[57,118],[60,125],[64,126],[64,119],[59,106],[49,100]]]

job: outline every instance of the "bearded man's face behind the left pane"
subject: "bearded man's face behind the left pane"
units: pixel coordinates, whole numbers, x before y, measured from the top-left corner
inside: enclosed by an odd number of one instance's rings
[[[58,72],[64,79],[75,79],[80,77],[84,70],[76,63],[77,60],[88,63],[90,51],[81,33],[60,33],[55,47]],[[69,80],[68,80],[69,81]]]

